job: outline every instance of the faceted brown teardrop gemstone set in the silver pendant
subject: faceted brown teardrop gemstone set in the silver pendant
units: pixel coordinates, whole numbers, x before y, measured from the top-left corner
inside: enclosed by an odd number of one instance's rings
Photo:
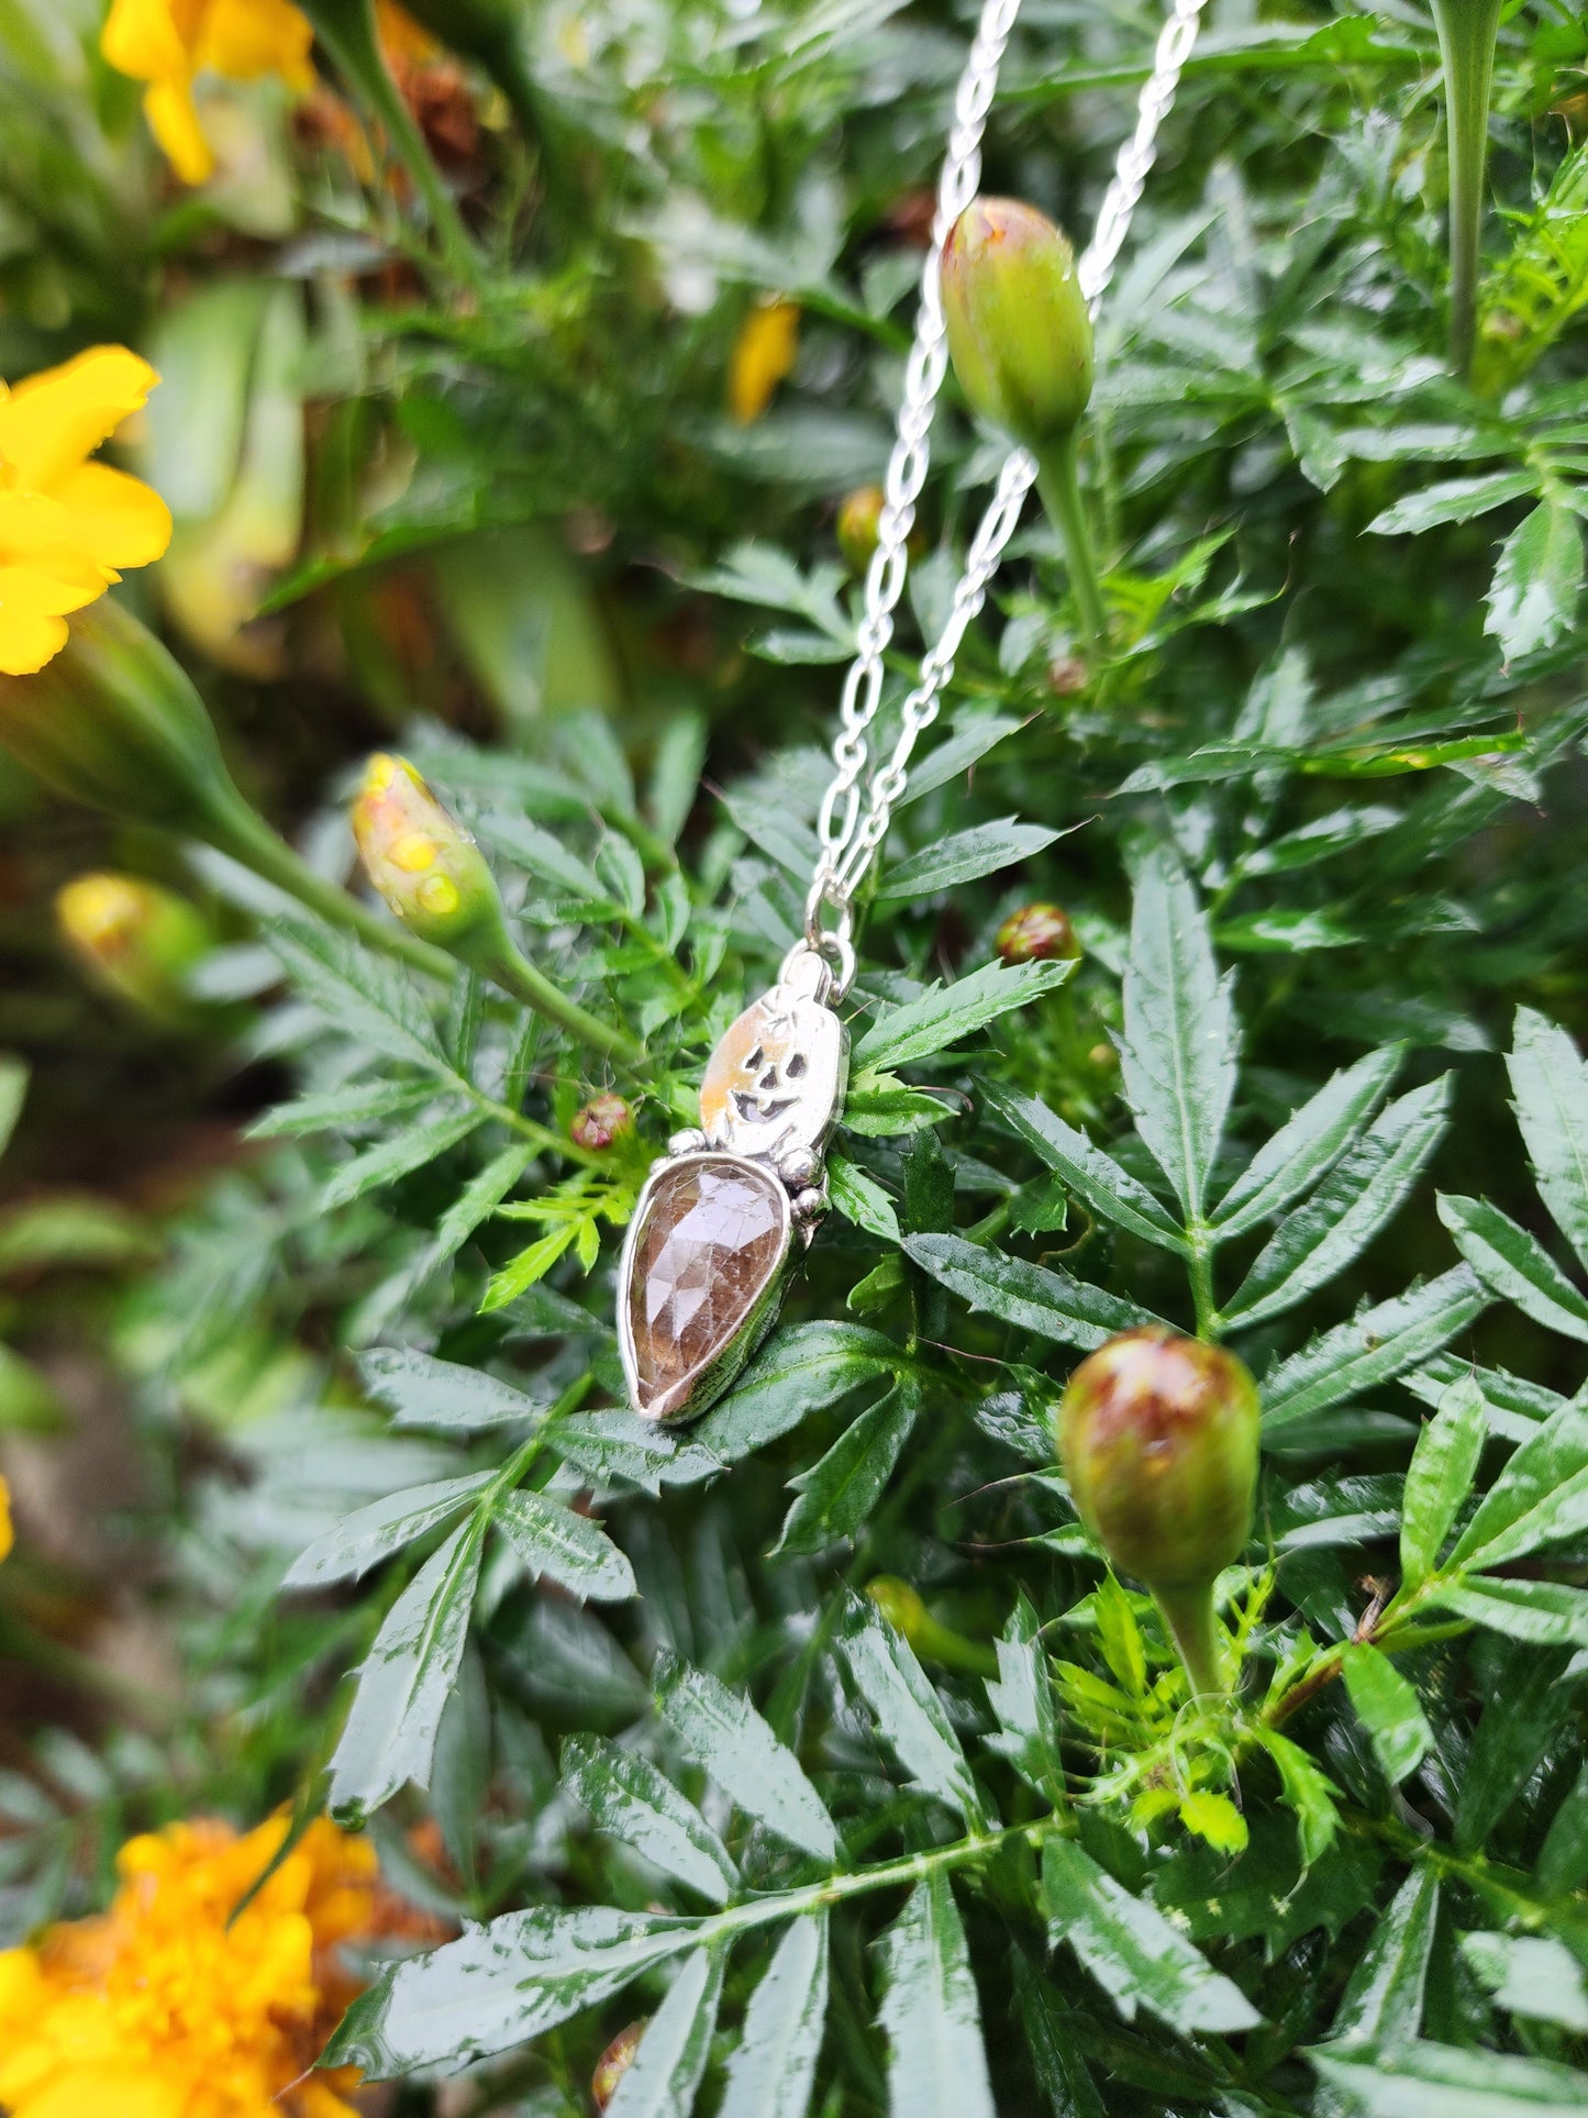
[[[733,1347],[783,1262],[777,1178],[733,1154],[663,1169],[635,1231],[629,1345],[635,1406],[671,1419]]]

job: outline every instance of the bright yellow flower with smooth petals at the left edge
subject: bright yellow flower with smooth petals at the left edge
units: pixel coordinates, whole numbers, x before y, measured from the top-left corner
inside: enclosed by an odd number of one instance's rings
[[[32,676],[66,646],[66,612],[172,542],[159,493],[89,455],[159,375],[125,345],[0,383],[0,669]]]

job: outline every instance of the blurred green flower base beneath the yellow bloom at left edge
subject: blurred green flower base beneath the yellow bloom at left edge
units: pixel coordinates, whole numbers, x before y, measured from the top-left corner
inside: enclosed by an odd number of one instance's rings
[[[159,640],[104,597],[61,652],[0,676],[0,743],[68,801],[210,837],[241,805],[203,701]]]

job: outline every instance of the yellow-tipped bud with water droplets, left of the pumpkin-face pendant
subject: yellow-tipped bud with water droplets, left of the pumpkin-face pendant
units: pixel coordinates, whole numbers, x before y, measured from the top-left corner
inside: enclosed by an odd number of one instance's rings
[[[411,934],[466,964],[500,957],[506,919],[485,856],[407,758],[368,760],[351,824],[364,873]]]

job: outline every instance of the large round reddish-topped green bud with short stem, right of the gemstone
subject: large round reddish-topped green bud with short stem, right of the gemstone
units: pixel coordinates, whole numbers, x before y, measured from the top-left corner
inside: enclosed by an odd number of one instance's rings
[[[1148,1584],[1194,1690],[1220,1690],[1211,1586],[1251,1533],[1258,1385],[1222,1347],[1148,1324],[1090,1353],[1059,1402],[1080,1519]]]

